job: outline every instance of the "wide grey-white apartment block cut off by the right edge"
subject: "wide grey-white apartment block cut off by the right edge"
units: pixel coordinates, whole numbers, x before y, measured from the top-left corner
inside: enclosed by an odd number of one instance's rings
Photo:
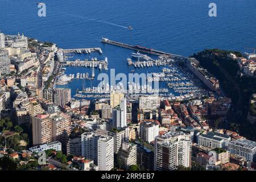
[[[256,142],[247,139],[232,140],[229,142],[228,151],[246,158],[250,162],[256,162]]]

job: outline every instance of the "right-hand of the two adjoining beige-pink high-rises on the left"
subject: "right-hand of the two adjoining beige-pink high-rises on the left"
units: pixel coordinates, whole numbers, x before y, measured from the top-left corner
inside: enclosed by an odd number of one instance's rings
[[[68,137],[71,134],[71,117],[61,113],[51,117],[52,119],[52,141],[59,141],[61,146],[67,146]]]

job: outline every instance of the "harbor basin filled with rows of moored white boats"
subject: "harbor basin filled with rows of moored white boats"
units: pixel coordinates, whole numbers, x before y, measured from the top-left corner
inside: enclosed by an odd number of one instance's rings
[[[68,49],[67,55],[75,60],[67,60],[61,62],[64,67],[64,72],[56,82],[56,85],[67,85],[68,88],[72,88],[72,96],[75,98],[108,98],[110,92],[113,90],[121,90],[127,97],[139,97],[151,94],[158,94],[159,96],[170,98],[171,100],[182,100],[195,97],[197,94],[202,93],[202,89],[192,81],[192,74],[184,71],[180,67],[180,64],[184,63],[186,57],[173,55],[171,53],[156,51],[154,49],[148,49],[138,46],[130,46],[128,44],[122,44],[118,42],[112,42],[109,39],[102,39],[102,42],[108,44],[117,44],[116,46],[123,47],[126,52],[125,59],[121,59],[118,56],[118,51],[113,55],[107,52],[107,55],[97,55],[97,53],[89,53],[85,50]],[[122,44],[122,46],[121,46]],[[106,47],[105,47],[106,48]],[[109,47],[108,47],[109,48]],[[112,48],[112,47],[110,47]],[[119,48],[112,48],[119,49]],[[122,51],[122,50],[119,51]],[[133,50],[132,52],[129,51]],[[65,49],[67,51],[67,49]],[[72,52],[72,51],[73,52]],[[95,50],[95,48],[94,48]],[[97,49],[97,50],[101,50]],[[85,52],[84,52],[85,51]],[[110,57],[111,61],[106,57]],[[118,60],[117,58],[118,57]],[[127,58],[128,57],[128,58]],[[116,61],[113,61],[116,60]],[[97,80],[95,77],[101,72],[106,73],[109,77],[109,68],[115,68],[121,73],[125,73],[126,76],[129,73],[149,73],[144,80],[139,82],[128,81],[126,85],[119,85],[122,82],[116,80],[117,85],[109,85],[110,80],[107,80],[108,84],[103,85],[101,80]],[[120,72],[119,72],[120,73]],[[115,74],[116,75],[116,74]],[[156,88],[155,88],[156,84]],[[67,88],[65,86],[65,88]],[[76,89],[74,89],[76,88]]]

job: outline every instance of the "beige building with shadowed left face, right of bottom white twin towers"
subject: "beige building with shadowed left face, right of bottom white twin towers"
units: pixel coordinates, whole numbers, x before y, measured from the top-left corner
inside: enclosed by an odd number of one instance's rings
[[[128,169],[131,165],[137,164],[137,144],[123,142],[118,151],[117,160],[121,162],[122,168]]]

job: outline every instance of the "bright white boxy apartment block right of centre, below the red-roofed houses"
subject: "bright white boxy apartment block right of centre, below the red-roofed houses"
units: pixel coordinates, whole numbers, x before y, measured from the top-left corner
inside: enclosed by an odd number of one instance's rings
[[[140,126],[141,139],[145,142],[153,142],[159,135],[159,125],[155,122],[143,122]]]

